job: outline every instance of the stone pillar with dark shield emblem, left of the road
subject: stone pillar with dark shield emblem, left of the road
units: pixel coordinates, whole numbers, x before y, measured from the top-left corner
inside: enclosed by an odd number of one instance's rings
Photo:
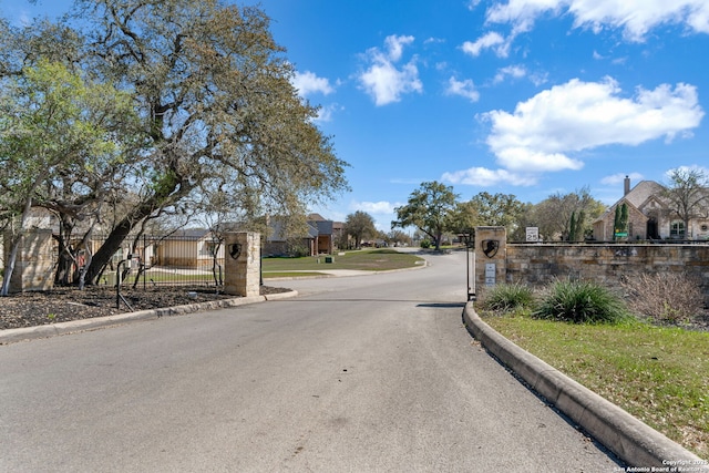
[[[224,238],[224,291],[233,296],[260,295],[261,238],[251,232],[228,233]]]

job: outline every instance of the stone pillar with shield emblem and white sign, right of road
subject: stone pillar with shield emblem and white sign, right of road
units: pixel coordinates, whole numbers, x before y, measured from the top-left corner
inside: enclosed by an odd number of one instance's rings
[[[475,291],[504,284],[507,273],[505,227],[475,227]]]

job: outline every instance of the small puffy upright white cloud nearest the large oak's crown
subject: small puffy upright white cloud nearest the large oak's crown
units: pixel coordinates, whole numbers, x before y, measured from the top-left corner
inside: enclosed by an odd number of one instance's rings
[[[377,105],[399,102],[404,93],[423,91],[415,56],[400,69],[395,65],[402,56],[403,47],[412,42],[413,37],[391,35],[384,40],[386,52],[378,48],[367,51],[371,65],[360,74],[359,81]]]

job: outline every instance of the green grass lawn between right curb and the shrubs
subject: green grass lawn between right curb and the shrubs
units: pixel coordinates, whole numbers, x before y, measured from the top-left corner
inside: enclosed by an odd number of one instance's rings
[[[508,340],[709,459],[709,333],[641,322],[483,320]]]

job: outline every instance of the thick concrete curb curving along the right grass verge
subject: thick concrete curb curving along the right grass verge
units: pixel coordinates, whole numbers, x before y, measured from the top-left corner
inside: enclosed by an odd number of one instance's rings
[[[489,352],[634,471],[709,472],[705,460],[497,333],[472,302],[463,321]]]

